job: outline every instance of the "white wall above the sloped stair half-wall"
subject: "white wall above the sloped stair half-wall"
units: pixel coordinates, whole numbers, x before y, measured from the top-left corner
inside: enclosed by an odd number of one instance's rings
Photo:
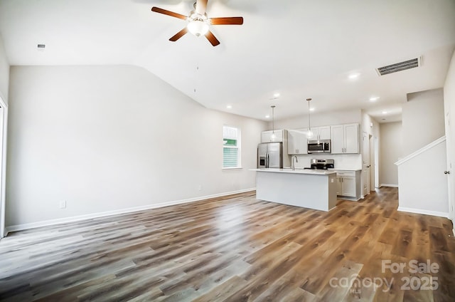
[[[427,90],[407,95],[402,108],[403,156],[444,136],[444,92]]]

